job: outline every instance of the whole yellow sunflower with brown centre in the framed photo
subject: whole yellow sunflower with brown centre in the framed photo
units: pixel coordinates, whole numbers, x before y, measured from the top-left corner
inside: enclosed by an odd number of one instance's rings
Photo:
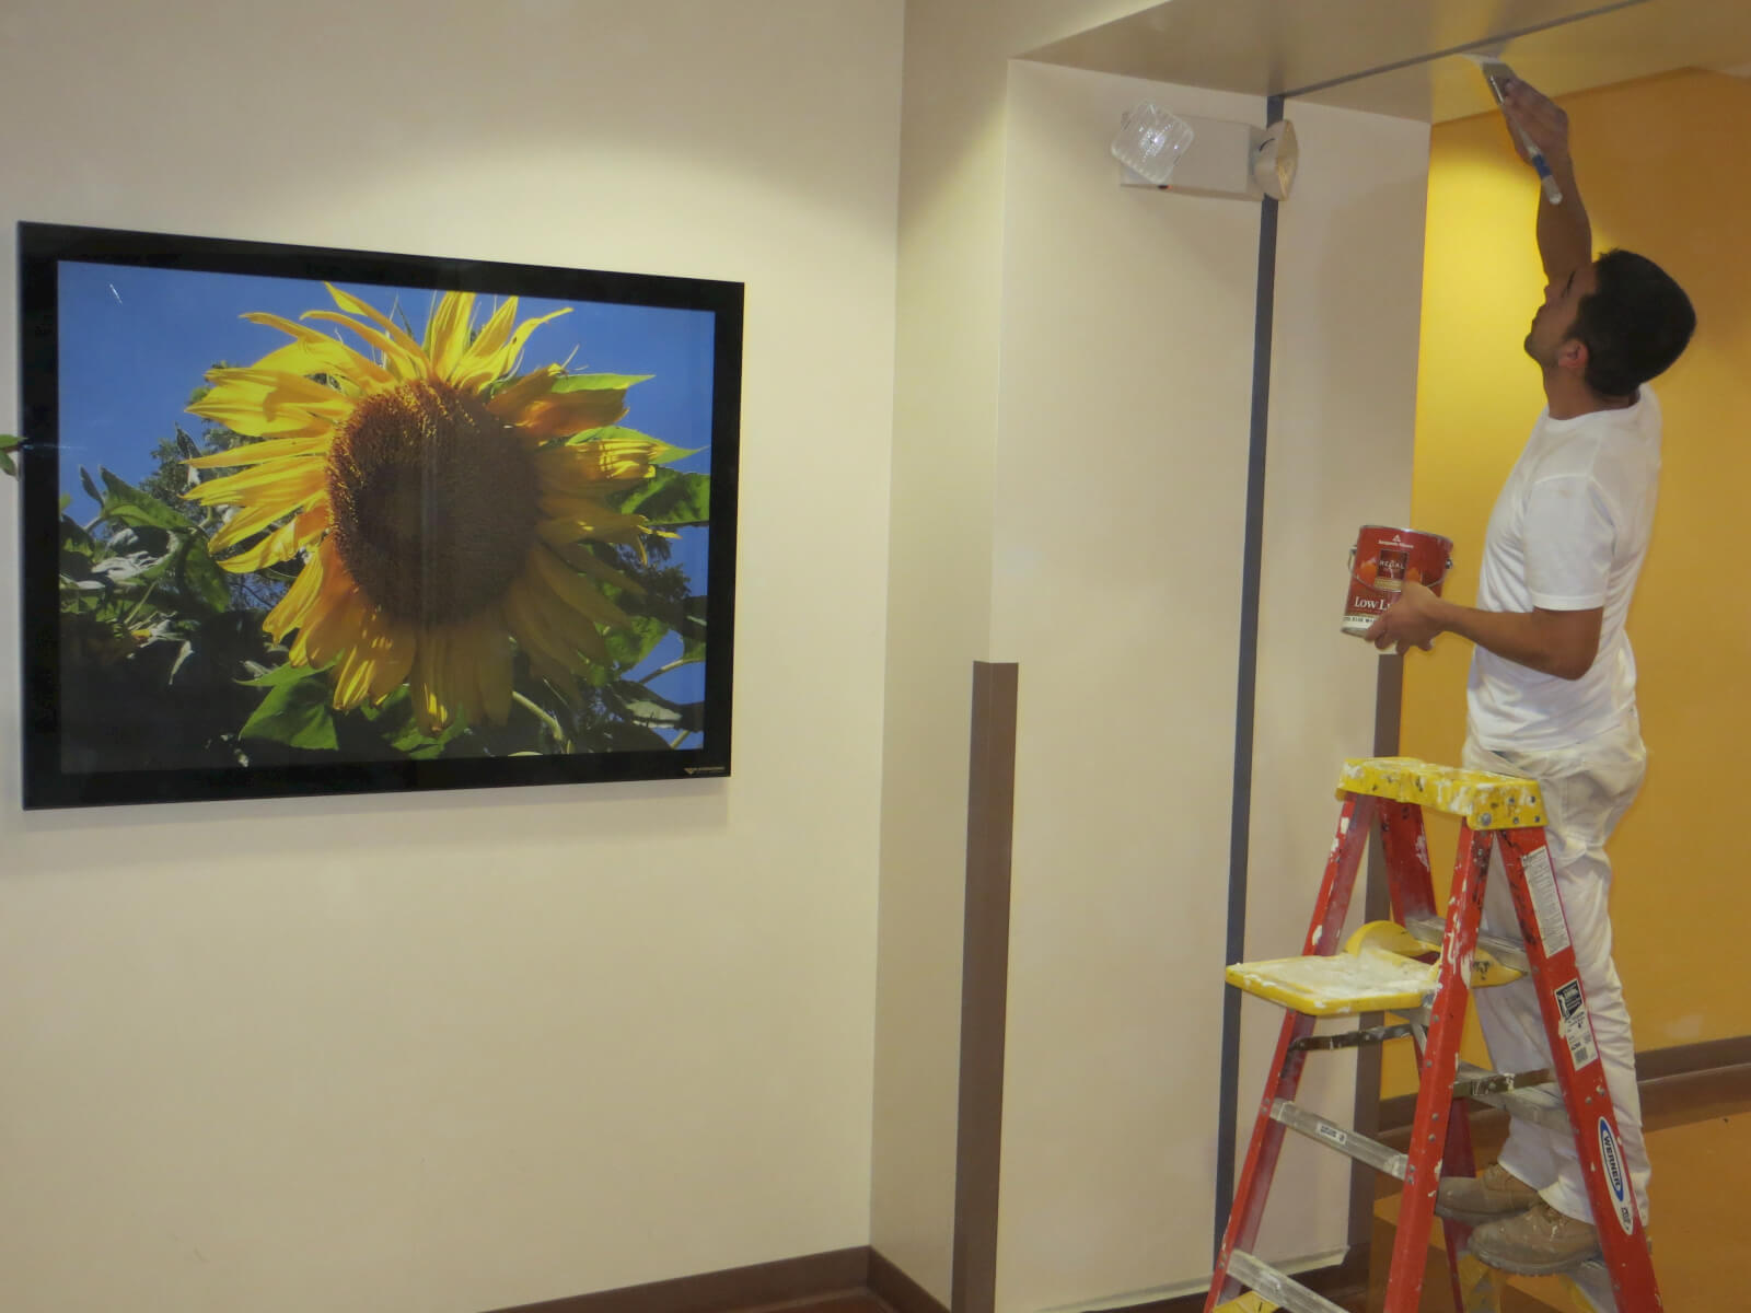
[[[585,544],[639,550],[653,532],[609,497],[676,452],[611,429],[636,378],[517,375],[529,334],[510,298],[475,331],[475,296],[447,292],[424,341],[329,285],[312,310],[364,350],[278,315],[243,319],[291,341],[207,375],[194,415],[257,441],[189,460],[238,467],[186,495],[235,506],[212,537],[247,574],[301,569],[263,628],[292,665],[333,662],[333,706],[383,702],[408,685],[420,728],[503,725],[517,651],[562,695],[608,662],[604,628],[629,623],[599,585],[637,592]],[[604,432],[599,432],[604,431]]]

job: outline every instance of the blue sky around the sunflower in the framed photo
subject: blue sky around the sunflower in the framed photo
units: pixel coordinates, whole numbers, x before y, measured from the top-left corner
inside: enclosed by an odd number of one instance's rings
[[[422,338],[438,292],[382,284],[338,284]],[[475,326],[497,301],[478,296]],[[522,371],[564,364],[573,373],[651,375],[627,394],[622,424],[695,455],[676,469],[711,471],[713,315],[602,301],[520,298],[517,322],[569,306],[531,334]],[[180,424],[200,438],[203,420],[186,406],[215,364],[249,366],[289,338],[250,324],[243,313],[266,312],[298,322],[308,310],[336,310],[319,280],[194,270],[140,268],[63,261],[60,266],[60,459],[68,513],[89,520],[96,506],[84,494],[79,469],[110,469],[130,483],[152,473],[152,448]],[[326,320],[355,350],[355,336]],[[683,530],[671,541],[671,564],[681,565],[693,592],[706,588],[706,530]],[[671,649],[672,648],[672,649]],[[679,655],[671,635],[651,653],[646,669]],[[700,665],[683,667],[653,685],[676,700],[704,695]],[[697,739],[695,739],[697,742]]]

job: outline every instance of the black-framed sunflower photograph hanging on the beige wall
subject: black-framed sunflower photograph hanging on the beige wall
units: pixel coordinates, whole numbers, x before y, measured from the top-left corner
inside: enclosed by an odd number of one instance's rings
[[[19,224],[25,805],[723,776],[742,285]]]

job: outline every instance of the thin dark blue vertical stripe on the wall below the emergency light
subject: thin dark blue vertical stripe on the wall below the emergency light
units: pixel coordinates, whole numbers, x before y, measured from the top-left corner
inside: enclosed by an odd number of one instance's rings
[[[1283,98],[1266,102],[1266,123]],[[1234,693],[1234,798],[1227,828],[1227,938],[1224,963],[1247,956],[1247,858],[1252,821],[1252,720],[1259,681],[1259,565],[1264,557],[1264,446],[1271,420],[1271,322],[1276,308],[1276,201],[1259,212],[1259,291],[1252,327],[1252,432],[1247,445],[1247,529],[1240,572],[1240,676]],[[1234,1134],[1240,1115],[1240,991],[1222,991],[1222,1080],[1215,1145],[1215,1241],[1222,1248],[1234,1204]],[[1212,1259],[1213,1262],[1213,1259]]]

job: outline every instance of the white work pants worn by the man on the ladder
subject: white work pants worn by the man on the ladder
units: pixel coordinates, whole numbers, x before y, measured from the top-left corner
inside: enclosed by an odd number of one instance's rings
[[[1611,861],[1606,840],[1628,811],[1648,767],[1641,741],[1641,723],[1632,714],[1627,725],[1574,748],[1543,753],[1492,753],[1474,739],[1466,741],[1466,765],[1511,776],[1530,776],[1544,795],[1550,844],[1557,872],[1557,891],[1574,942],[1574,961],[1586,993],[1586,1010],[1593,1019],[1593,1040],[1606,1071],[1606,1087],[1618,1113],[1618,1133],[1630,1183],[1648,1220],[1648,1148],[1641,1129],[1641,1094],[1635,1087],[1635,1042],[1630,1038],[1630,1014],[1623,1005],[1623,986],[1611,961]],[[1483,924],[1497,935],[1520,938],[1501,854],[1490,860],[1490,877],[1483,898]],[[1532,977],[1508,986],[1480,989],[1478,1021],[1490,1043],[1490,1061],[1497,1071],[1530,1071],[1550,1066],[1550,1045],[1539,1014]],[[1539,1190],[1558,1213],[1593,1220],[1586,1201],[1574,1141],[1558,1131],[1515,1120],[1502,1148],[1501,1164]],[[1611,1218],[1606,1218],[1611,1225]]]

